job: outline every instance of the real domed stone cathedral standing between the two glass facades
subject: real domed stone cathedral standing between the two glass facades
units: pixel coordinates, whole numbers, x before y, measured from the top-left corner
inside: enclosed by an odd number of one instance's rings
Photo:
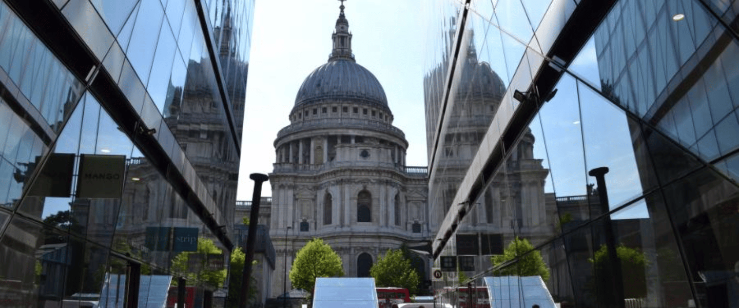
[[[342,5],[330,58],[305,78],[274,142],[270,237],[285,270],[313,237],[336,250],[352,277],[369,276],[386,250],[429,236],[426,170],[406,168],[408,142],[392,126],[381,84],[356,63],[352,36]],[[283,276],[273,276],[273,296]]]

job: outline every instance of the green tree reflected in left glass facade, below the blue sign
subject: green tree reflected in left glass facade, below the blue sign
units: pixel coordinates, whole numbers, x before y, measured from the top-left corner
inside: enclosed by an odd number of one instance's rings
[[[197,268],[190,268],[190,255],[193,253],[202,254],[204,256]],[[207,255],[209,253],[223,253],[212,239],[205,239],[202,237],[197,238],[197,251],[183,251],[177,253],[172,259],[171,270],[174,273],[178,273],[185,277],[188,281],[199,281],[203,282],[208,286],[219,288],[222,287],[223,282],[226,280],[226,270],[209,270],[207,264]],[[172,284],[176,285],[177,281],[173,280]]]

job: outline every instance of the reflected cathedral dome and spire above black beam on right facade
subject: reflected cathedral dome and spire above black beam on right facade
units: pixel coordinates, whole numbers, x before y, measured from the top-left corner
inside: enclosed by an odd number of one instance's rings
[[[471,37],[472,32],[468,33]],[[491,69],[487,62],[477,59],[474,45],[466,46],[465,57],[461,60],[460,82],[454,96],[450,97],[452,112],[444,119],[438,119],[443,114],[443,94],[435,93],[443,83],[443,74],[448,64],[439,64],[424,78],[426,89],[426,139],[429,143],[429,157],[432,157],[434,137],[436,136],[438,120],[443,120],[443,129],[439,135],[435,168],[442,175],[432,179],[432,191],[441,192],[441,196],[429,199],[432,214],[432,229],[436,229],[452,205],[458,184],[462,181],[469,164],[477,153],[477,148],[490,125],[500,100],[505,93],[505,85],[500,77]],[[438,193],[437,193],[438,194]]]

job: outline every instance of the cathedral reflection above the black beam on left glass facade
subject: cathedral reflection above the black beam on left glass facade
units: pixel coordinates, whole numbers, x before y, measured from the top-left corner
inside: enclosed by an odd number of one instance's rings
[[[225,225],[233,225],[234,202],[238,174],[231,167],[238,164],[236,147],[229,142],[234,134],[241,136],[243,100],[245,98],[248,64],[236,53],[231,37],[233,16],[225,7],[223,26],[214,29],[219,40],[219,63],[225,77],[225,91],[233,106],[225,108],[217,83],[212,79],[212,64],[208,58],[190,58],[185,86],[170,89],[165,121],[185,155],[200,174],[208,194],[217,205]],[[207,56],[206,54],[203,55]],[[234,110],[240,110],[237,114]],[[231,117],[224,120],[223,117]],[[236,131],[226,125],[234,120]],[[186,213],[184,213],[186,216]],[[180,217],[185,218],[185,217]],[[194,218],[188,218],[194,219]]]

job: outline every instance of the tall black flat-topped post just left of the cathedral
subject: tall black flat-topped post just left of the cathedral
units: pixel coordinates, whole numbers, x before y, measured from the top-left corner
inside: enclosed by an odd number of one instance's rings
[[[239,293],[239,308],[246,308],[249,283],[251,282],[251,261],[254,259],[254,237],[259,220],[259,202],[262,200],[262,183],[270,177],[267,174],[249,174],[254,181],[254,193],[251,195],[251,211],[249,213],[249,233],[246,236],[246,256],[244,258],[244,272],[241,276],[241,292]]]

